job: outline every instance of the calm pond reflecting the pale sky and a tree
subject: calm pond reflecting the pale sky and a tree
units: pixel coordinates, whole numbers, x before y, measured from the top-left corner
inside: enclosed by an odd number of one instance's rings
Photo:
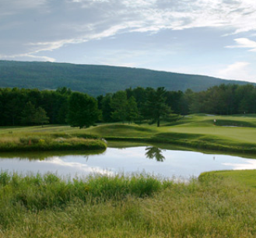
[[[166,145],[109,143],[105,152],[0,153],[1,170],[18,173],[57,173],[87,176],[90,173],[150,173],[160,177],[198,177],[212,170],[253,170],[256,159],[185,151]]]

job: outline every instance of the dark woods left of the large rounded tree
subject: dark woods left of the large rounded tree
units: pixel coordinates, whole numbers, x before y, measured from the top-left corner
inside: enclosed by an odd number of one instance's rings
[[[71,90],[0,89],[0,125],[65,124]]]

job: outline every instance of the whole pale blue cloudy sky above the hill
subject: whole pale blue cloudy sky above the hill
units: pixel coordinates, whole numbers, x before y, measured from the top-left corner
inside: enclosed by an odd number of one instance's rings
[[[256,1],[0,0],[0,60],[256,82]]]

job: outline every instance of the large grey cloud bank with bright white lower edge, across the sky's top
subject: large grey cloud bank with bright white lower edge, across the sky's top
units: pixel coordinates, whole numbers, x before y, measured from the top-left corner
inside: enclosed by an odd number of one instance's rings
[[[254,0],[2,0],[0,19],[6,24],[0,27],[0,52],[33,57],[132,32],[195,27],[256,31],[255,12]]]

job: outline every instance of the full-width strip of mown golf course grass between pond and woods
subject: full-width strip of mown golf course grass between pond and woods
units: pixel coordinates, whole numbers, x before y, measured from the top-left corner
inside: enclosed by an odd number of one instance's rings
[[[214,123],[213,120],[216,120]],[[44,128],[0,128],[0,142],[30,135],[106,138],[136,142],[164,142],[195,149],[256,153],[256,115],[193,114],[160,128],[149,124],[98,124],[90,128],[47,125]]]

